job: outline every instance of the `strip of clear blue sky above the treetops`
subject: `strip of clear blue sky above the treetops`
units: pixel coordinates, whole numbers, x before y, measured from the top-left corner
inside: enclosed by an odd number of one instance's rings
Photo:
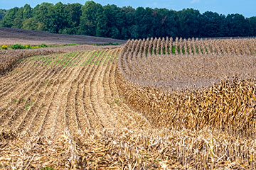
[[[13,8],[15,6],[23,6],[30,4],[32,7],[42,2],[57,3],[60,0],[0,0],[0,8]],[[61,1],[63,4],[75,3],[85,4],[85,1]],[[117,6],[138,6],[151,7],[151,8],[168,8],[179,11],[183,8],[195,8],[201,13],[204,11],[213,11],[220,14],[240,13],[245,17],[256,16],[256,0],[95,0],[95,2],[102,5],[115,4]]]

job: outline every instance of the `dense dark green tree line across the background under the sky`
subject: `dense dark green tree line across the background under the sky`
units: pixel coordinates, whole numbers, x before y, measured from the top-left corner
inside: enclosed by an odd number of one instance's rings
[[[127,40],[147,37],[214,38],[256,36],[256,17],[221,15],[193,8],[181,11],[166,8],[102,6],[94,1],[82,4],[28,4],[0,10],[0,26],[44,30],[50,33],[93,35]]]

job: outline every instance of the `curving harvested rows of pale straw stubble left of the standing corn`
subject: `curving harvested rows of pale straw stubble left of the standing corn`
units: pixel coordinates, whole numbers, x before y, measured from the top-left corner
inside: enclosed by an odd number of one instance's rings
[[[14,91],[6,86],[6,95],[0,98],[4,103],[0,129],[29,133],[31,137],[57,137],[67,130],[73,135],[85,135],[107,129],[151,127],[119,96],[114,75],[120,52],[97,50],[21,62],[14,71],[23,72],[6,75],[6,81],[14,78],[23,86],[16,84]],[[22,75],[32,72],[31,65],[37,72],[22,79]]]

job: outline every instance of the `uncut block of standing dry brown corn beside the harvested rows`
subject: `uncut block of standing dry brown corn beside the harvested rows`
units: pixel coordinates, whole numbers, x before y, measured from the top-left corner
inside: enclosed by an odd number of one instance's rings
[[[250,56],[254,49],[245,47],[255,39],[176,38],[175,47],[168,47],[166,38],[166,55],[159,55],[163,41],[154,39],[152,55],[137,57],[127,50],[119,56],[116,83],[127,104],[156,127],[210,126],[235,135],[255,135],[256,57]],[[135,48],[134,43],[127,45]],[[175,49],[176,55],[167,55],[168,49]]]

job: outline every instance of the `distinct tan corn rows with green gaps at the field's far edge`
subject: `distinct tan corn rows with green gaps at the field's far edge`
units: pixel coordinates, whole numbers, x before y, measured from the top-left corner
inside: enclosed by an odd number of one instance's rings
[[[236,54],[256,55],[255,38],[242,39],[178,39],[147,38],[146,40],[128,40],[122,51],[135,52],[136,55],[196,55],[196,54]]]

